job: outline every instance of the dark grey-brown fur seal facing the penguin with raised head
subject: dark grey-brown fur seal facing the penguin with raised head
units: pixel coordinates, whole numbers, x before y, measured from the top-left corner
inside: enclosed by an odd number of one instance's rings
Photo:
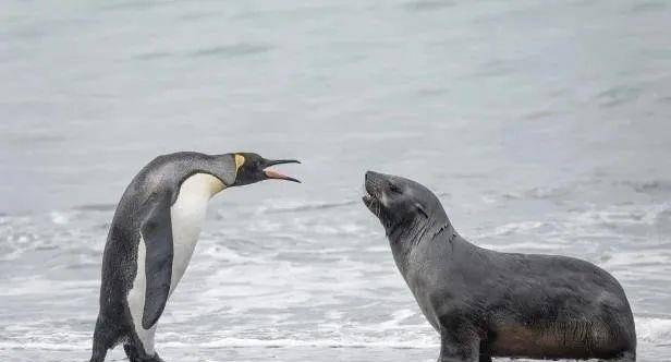
[[[367,172],[364,203],[381,221],[401,275],[440,334],[438,361],[636,360],[622,287],[585,261],[478,248],[422,184]]]

